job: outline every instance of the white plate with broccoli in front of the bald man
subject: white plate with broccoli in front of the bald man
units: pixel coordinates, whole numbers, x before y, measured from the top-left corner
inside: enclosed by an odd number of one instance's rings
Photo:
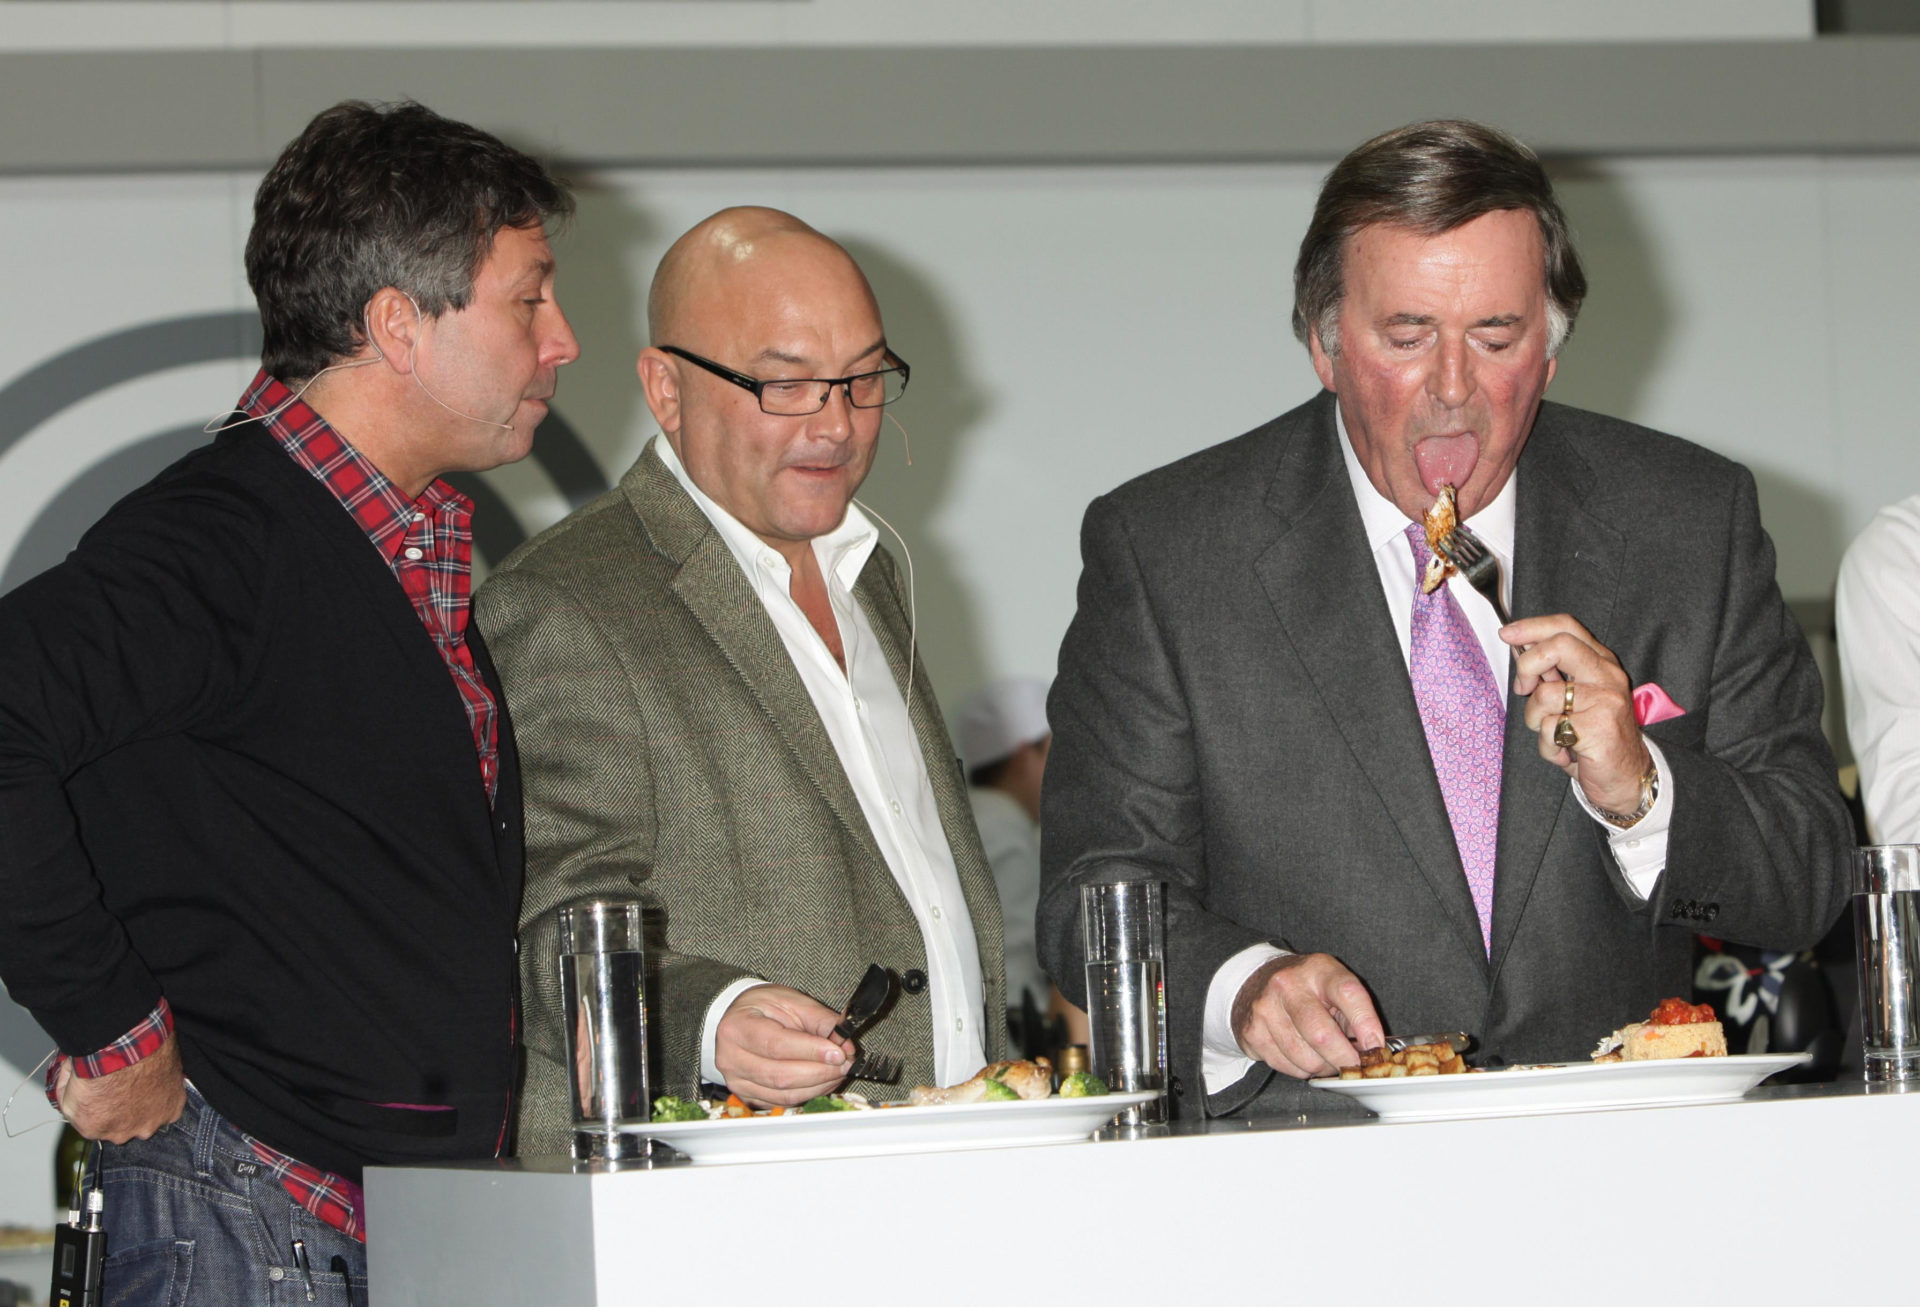
[[[1035,1098],[1018,1104],[945,1104],[874,1111],[789,1111],[783,1117],[653,1121],[628,1134],[657,1138],[699,1163],[876,1157],[964,1148],[1025,1148],[1091,1138],[1150,1092],[1104,1098]]]

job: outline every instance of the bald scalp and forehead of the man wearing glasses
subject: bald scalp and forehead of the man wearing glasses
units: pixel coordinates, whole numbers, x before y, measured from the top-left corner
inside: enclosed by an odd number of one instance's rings
[[[701,328],[737,296],[753,296],[770,278],[791,273],[851,273],[866,288],[852,255],[791,213],[755,205],[720,209],[660,257],[647,294],[647,334],[657,345],[699,340]]]

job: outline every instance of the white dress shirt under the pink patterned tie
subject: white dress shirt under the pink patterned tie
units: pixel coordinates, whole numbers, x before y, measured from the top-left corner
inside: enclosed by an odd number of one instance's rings
[[[1367,532],[1367,547],[1373,549],[1373,562],[1380,574],[1386,612],[1394,620],[1394,639],[1400,641],[1402,660],[1407,660],[1413,647],[1415,582],[1413,549],[1407,545],[1407,514],[1367,480],[1367,470],[1359,464],[1354,443],[1348,440],[1346,420],[1338,416],[1338,409],[1334,409],[1334,422],[1340,428],[1340,455],[1346,461],[1346,476],[1354,487],[1354,499],[1359,503],[1359,522]],[[1494,495],[1494,501],[1471,518],[1473,534],[1500,560],[1500,597],[1509,612],[1513,610],[1513,520],[1515,503],[1519,501],[1519,480],[1521,474],[1515,470],[1507,478],[1507,484],[1500,487],[1500,493]],[[1513,649],[1500,639],[1500,614],[1494,612],[1494,605],[1465,576],[1455,574],[1448,580],[1448,585],[1453,591],[1453,601],[1467,614],[1473,633],[1480,639],[1486,664],[1494,668],[1494,677],[1503,681],[1509,693],[1507,710],[1521,712],[1521,704],[1511,701]],[[1628,831],[1605,821],[1594,804],[1588,802],[1580,785],[1569,779],[1572,796],[1586,808],[1594,821],[1605,827],[1607,846],[1613,850],[1613,860],[1619,864],[1620,875],[1626,877],[1626,883],[1642,898],[1653,892],[1655,881],[1661,879],[1661,871],[1667,867],[1667,829],[1672,825],[1674,810],[1672,772],[1667,768],[1667,758],[1651,739],[1647,741],[1647,752],[1653,754],[1653,766],[1661,770],[1661,793],[1647,816]],[[1542,760],[1538,766],[1548,764]],[[1208,1094],[1217,1094],[1252,1069],[1254,1061],[1240,1052],[1240,1042],[1233,1036],[1233,1000],[1254,971],[1273,958],[1284,956],[1284,950],[1271,944],[1252,944],[1223,962],[1219,971],[1213,973],[1213,981],[1206,992],[1206,1021],[1200,1036],[1200,1069]]]

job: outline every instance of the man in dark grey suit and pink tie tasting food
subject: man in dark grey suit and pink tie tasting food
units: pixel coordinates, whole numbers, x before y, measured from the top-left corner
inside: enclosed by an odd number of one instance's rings
[[[1542,399],[1586,282],[1532,152],[1369,140],[1294,292],[1325,393],[1087,511],[1048,971],[1077,996],[1079,885],[1167,881],[1196,1117],[1336,1109],[1304,1081],[1386,1033],[1584,1057],[1690,992],[1695,929],[1816,940],[1847,816],[1753,478]],[[1423,585],[1444,487],[1519,620]]]

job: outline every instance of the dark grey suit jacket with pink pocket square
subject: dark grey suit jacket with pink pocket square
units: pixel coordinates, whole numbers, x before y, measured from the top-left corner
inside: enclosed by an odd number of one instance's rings
[[[1513,610],[1571,612],[1688,712],[1647,731],[1678,802],[1644,902],[1509,701],[1488,958],[1336,441],[1321,393],[1087,511],[1048,702],[1041,958],[1079,998],[1077,887],[1169,883],[1175,1109],[1344,1102],[1263,1067],[1202,1102],[1208,981],[1260,940],[1346,962],[1388,1033],[1465,1029],[1509,1061],[1584,1057],[1692,992],[1695,931],[1816,940],[1851,839],[1745,468],[1542,407]]]

